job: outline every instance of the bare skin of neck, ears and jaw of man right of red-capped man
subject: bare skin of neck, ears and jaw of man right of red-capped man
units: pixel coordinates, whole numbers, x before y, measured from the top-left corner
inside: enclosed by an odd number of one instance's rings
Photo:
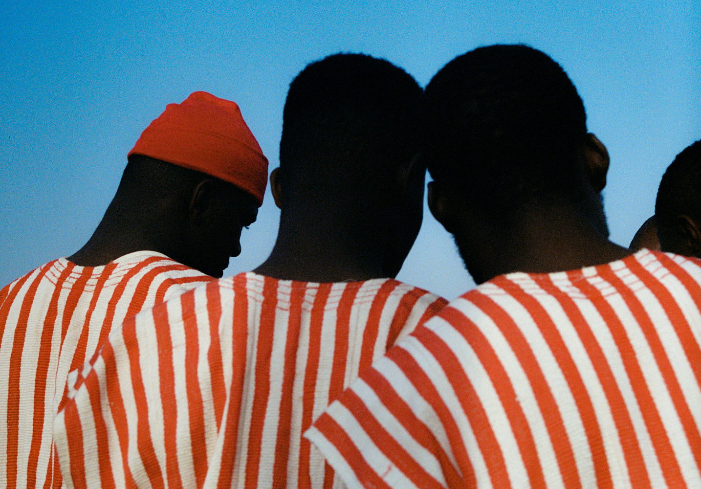
[[[394,278],[414,244],[423,214],[426,173],[414,159],[397,174],[372,212],[348,218],[342,199],[285,202],[280,169],[270,176],[275,205],[281,210],[278,239],[255,273],[275,279],[331,283]]]

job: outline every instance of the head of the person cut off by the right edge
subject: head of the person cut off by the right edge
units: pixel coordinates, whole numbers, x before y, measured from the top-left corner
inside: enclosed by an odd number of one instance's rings
[[[655,201],[662,251],[701,257],[701,140],[676,155]]]

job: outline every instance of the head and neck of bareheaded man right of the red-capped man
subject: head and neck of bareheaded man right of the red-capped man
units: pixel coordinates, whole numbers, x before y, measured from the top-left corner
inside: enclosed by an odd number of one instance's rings
[[[423,92],[364,54],[313,62],[290,84],[271,190],[278,240],[256,271],[280,279],[394,277],[421,227]]]

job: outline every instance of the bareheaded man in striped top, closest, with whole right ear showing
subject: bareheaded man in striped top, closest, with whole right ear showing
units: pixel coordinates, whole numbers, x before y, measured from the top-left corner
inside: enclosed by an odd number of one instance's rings
[[[608,156],[547,55],[477,48],[426,98],[430,208],[481,285],[306,436],[349,488],[701,487],[701,262],[608,241]]]

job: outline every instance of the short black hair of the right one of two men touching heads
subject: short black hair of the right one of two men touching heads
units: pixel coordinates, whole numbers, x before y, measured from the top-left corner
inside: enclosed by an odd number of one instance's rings
[[[542,51],[515,44],[460,55],[428,83],[425,103],[428,170],[471,206],[503,218],[531,199],[582,198],[584,104]]]

